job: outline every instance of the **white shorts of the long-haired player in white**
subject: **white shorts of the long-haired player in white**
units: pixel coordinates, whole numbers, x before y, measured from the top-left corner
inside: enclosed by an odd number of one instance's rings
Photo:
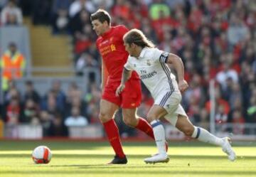
[[[174,127],[178,120],[178,114],[181,114],[185,117],[188,117],[185,110],[181,106],[181,92],[177,90],[178,85],[174,82],[175,91],[174,92],[165,92],[159,97],[156,98],[154,104],[157,104],[166,109],[166,116],[164,118],[169,121]]]

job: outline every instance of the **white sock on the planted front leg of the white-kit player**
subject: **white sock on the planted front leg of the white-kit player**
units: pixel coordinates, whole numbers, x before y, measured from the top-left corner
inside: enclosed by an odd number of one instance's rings
[[[154,132],[154,138],[156,141],[157,149],[159,150],[159,154],[166,154],[164,126],[159,120],[154,120],[150,122],[150,124]]]

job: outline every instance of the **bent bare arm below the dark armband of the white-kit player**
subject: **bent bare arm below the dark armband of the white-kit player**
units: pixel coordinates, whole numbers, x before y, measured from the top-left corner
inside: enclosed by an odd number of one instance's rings
[[[188,82],[184,80],[184,65],[181,58],[179,58],[178,55],[169,53],[167,63],[174,65],[178,75],[178,89],[184,92],[188,89]]]

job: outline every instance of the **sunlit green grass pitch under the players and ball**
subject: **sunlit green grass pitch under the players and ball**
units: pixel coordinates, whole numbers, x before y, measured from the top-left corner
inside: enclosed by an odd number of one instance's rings
[[[48,146],[53,158],[34,164],[32,150]],[[169,163],[146,164],[156,153],[154,142],[124,142],[127,165],[107,165],[113,157],[108,142],[0,141],[0,176],[256,176],[256,143],[234,142],[238,155],[228,161],[220,147],[199,142],[169,142]]]

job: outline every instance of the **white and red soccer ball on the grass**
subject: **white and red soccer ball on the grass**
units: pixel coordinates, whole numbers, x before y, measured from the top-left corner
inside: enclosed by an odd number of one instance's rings
[[[49,163],[52,154],[47,146],[38,146],[33,150],[32,159],[35,163]]]

